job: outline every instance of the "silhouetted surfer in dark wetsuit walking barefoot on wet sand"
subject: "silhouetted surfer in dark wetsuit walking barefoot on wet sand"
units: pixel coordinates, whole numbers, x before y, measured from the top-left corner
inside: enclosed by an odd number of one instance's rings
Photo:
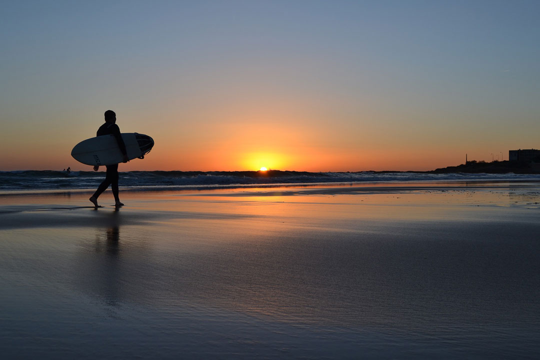
[[[120,151],[122,151],[122,154],[124,155],[124,161],[127,162],[129,159],[127,159],[127,151],[126,146],[124,144],[124,140],[122,140],[122,135],[120,135],[120,128],[118,125],[116,125],[116,113],[112,110],[105,111],[105,124],[99,127],[97,135],[96,136],[102,136],[102,135],[108,135],[112,134],[116,138],[116,141],[118,142],[118,147],[120,147]],[[98,206],[98,197],[101,195],[109,185],[111,185],[112,194],[114,195],[115,206],[122,206],[124,205],[122,202],[120,202],[120,199],[118,198],[118,164],[114,165],[105,165],[107,168],[107,175],[105,176],[105,180],[99,185],[96,192],[90,197],[90,201],[93,203],[94,206]],[[94,171],[98,171],[99,166],[94,166]]]

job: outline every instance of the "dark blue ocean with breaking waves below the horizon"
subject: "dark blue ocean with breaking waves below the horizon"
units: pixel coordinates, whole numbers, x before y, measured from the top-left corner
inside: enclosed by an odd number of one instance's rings
[[[3,171],[0,191],[89,189],[105,178],[103,172]],[[391,181],[538,180],[540,174],[468,174],[414,172],[300,172],[300,171],[129,171],[120,173],[120,187],[181,189],[208,187],[277,186]]]

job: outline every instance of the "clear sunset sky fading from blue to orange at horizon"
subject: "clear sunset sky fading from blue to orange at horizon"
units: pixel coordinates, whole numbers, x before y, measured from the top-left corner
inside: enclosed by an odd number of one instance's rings
[[[539,1],[3,1],[0,170],[103,112],[128,170],[428,170],[540,148]],[[493,155],[492,155],[493,154]]]

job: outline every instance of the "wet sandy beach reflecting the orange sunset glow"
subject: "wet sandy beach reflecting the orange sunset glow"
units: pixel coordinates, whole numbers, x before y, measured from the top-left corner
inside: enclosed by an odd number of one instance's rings
[[[536,358],[540,182],[0,193],[4,358]]]

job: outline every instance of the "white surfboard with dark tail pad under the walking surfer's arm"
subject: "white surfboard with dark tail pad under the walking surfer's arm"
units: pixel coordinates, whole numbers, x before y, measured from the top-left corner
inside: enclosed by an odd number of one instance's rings
[[[123,133],[127,158],[130,160],[143,158],[154,146],[154,140],[148,135]],[[112,165],[124,160],[114,135],[102,135],[86,139],[73,147],[71,156],[86,165]]]

